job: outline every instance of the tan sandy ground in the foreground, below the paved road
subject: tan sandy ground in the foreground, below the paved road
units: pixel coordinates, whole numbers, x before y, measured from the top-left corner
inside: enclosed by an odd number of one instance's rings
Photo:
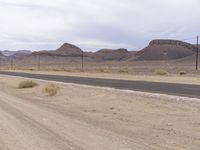
[[[200,100],[0,76],[0,150],[198,150]]]

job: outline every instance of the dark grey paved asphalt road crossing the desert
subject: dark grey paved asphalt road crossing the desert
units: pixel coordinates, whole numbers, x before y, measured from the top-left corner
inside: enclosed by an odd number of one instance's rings
[[[65,83],[77,83],[84,85],[111,87],[116,89],[145,91],[145,92],[162,93],[162,94],[170,94],[177,96],[186,96],[192,98],[200,98],[200,85],[86,78],[86,77],[30,74],[30,73],[4,72],[4,71],[0,71],[0,74],[50,80],[50,81],[59,81]]]

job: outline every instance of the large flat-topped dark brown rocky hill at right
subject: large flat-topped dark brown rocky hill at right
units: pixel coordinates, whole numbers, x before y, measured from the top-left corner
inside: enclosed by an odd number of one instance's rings
[[[178,40],[153,40],[138,51],[136,60],[174,60],[193,55],[195,46]]]

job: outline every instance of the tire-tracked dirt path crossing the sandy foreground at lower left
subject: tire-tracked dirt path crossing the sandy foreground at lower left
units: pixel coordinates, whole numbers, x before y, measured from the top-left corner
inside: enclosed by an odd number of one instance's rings
[[[30,128],[33,134],[45,141],[44,143],[53,145],[54,149],[131,150],[133,147],[146,149],[126,137],[89,126],[84,122],[64,117],[45,108],[41,109],[30,103],[25,103],[25,100],[2,92],[0,92],[0,109],[23,126]]]

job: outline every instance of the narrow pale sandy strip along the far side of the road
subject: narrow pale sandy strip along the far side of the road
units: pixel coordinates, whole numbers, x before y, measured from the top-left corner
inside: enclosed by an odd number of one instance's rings
[[[36,74],[51,74],[51,75],[66,75],[78,77],[106,78],[106,79],[121,79],[121,80],[137,80],[150,82],[166,82],[166,83],[184,83],[200,85],[200,75],[134,75],[134,74],[113,74],[113,73],[97,73],[97,72],[66,72],[66,71],[25,71],[25,70],[7,70],[15,72],[26,72]]]

